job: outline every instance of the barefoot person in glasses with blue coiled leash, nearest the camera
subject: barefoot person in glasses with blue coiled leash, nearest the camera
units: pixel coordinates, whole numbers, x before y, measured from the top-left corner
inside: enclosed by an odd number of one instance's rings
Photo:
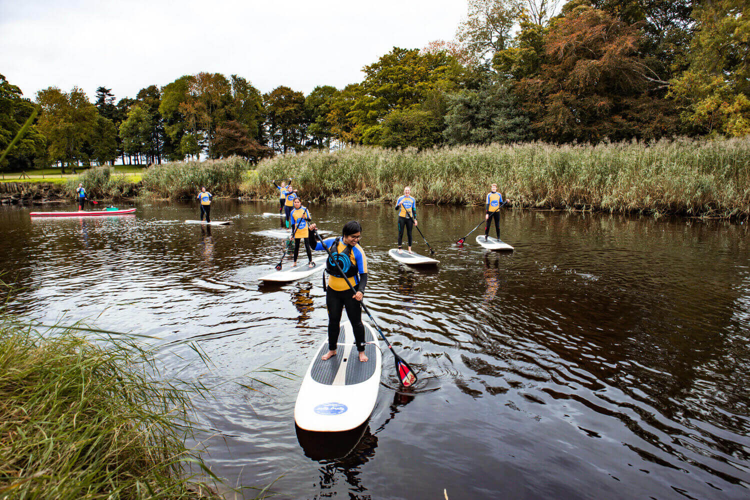
[[[310,228],[315,230],[315,224]],[[362,296],[368,283],[368,259],[365,258],[365,250],[359,246],[359,238],[362,237],[362,226],[356,220],[350,220],[344,224],[340,238],[326,238],[317,241],[315,250],[325,250],[326,245],[331,250],[332,256],[326,259],[326,272],[329,274],[328,287],[326,288],[326,308],[329,312],[329,352],[323,355],[323,360],[330,359],[336,355],[338,334],[340,331],[341,313],[346,308],[349,322],[354,331],[354,342],[359,352],[359,361],[368,361],[365,355],[365,325],[362,324]],[[332,259],[335,259],[333,261]],[[335,262],[341,266],[344,275],[338,270]],[[347,280],[352,284],[356,293],[347,285]]]

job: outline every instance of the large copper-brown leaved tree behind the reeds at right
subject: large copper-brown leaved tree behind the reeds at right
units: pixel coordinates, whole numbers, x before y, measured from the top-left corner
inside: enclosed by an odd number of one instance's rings
[[[541,69],[517,82],[535,136],[550,142],[658,139],[679,117],[638,48],[640,25],[582,8],[553,23]]]

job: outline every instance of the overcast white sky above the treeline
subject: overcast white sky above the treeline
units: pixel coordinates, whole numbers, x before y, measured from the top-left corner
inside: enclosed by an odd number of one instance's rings
[[[199,71],[278,85],[362,80],[393,46],[450,40],[466,0],[0,0],[0,74],[25,97],[99,85],[117,100]]]

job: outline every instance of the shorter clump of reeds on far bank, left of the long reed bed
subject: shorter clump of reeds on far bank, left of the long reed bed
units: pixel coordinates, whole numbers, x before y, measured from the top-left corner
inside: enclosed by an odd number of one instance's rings
[[[249,169],[251,164],[240,157],[154,165],[143,174],[144,194],[186,199],[205,186],[214,195],[236,196]]]

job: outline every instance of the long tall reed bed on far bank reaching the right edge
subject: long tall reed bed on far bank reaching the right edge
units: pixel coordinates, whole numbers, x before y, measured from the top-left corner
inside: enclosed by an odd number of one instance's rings
[[[271,196],[295,176],[304,198],[393,200],[410,185],[420,202],[478,204],[496,182],[517,207],[750,214],[750,139],[313,151],[263,160],[245,189]]]

